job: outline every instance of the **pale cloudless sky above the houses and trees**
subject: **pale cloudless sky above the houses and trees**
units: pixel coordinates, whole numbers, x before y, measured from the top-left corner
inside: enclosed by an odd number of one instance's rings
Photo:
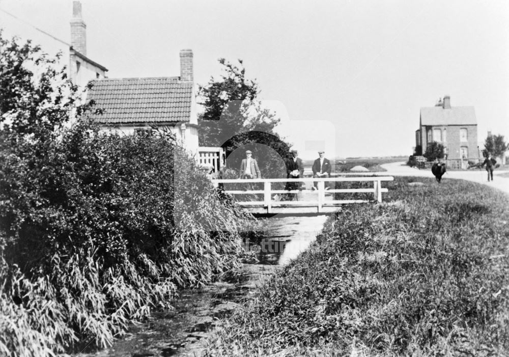
[[[303,158],[408,156],[420,107],[444,95],[475,107],[481,146],[488,131],[509,140],[506,0],[81,4],[87,57],[110,78],[178,76],[190,48],[206,85],[219,58],[242,59]],[[71,0],[0,0],[0,11],[70,42]]]

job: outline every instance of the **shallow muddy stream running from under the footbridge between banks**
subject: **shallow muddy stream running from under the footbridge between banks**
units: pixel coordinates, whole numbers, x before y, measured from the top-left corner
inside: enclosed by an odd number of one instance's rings
[[[221,281],[200,289],[181,290],[169,311],[157,311],[147,321],[132,325],[110,348],[75,356],[199,356],[220,319],[245,303],[257,286],[287,264],[315,239],[326,216],[275,216],[256,250],[256,264],[243,264],[234,281]]]

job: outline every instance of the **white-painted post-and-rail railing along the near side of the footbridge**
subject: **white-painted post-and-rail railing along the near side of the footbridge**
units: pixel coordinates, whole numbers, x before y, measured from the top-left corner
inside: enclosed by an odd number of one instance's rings
[[[213,179],[215,186],[222,184],[224,192],[230,195],[263,195],[260,201],[240,201],[237,204],[243,207],[264,207],[267,213],[272,213],[275,207],[316,207],[318,212],[324,212],[324,207],[336,207],[347,203],[363,203],[363,202],[382,202],[382,193],[386,193],[387,188],[382,187],[382,181],[393,181],[392,176],[372,176],[372,177],[335,177],[335,178],[295,178],[295,179]],[[325,188],[325,183],[334,186],[336,182],[373,182],[372,188]],[[272,189],[273,183],[297,182],[306,183],[318,182],[317,190],[310,189]],[[257,183],[263,183],[263,189],[253,189],[252,186]],[[245,184],[245,189],[228,189],[228,184]],[[279,184],[280,185],[280,184]],[[233,185],[232,185],[233,186]],[[325,193],[342,194],[342,193],[372,193],[373,200],[335,200],[333,196],[326,199]],[[297,201],[276,201],[272,195],[300,194],[302,197]],[[280,197],[280,196],[279,196]]]

